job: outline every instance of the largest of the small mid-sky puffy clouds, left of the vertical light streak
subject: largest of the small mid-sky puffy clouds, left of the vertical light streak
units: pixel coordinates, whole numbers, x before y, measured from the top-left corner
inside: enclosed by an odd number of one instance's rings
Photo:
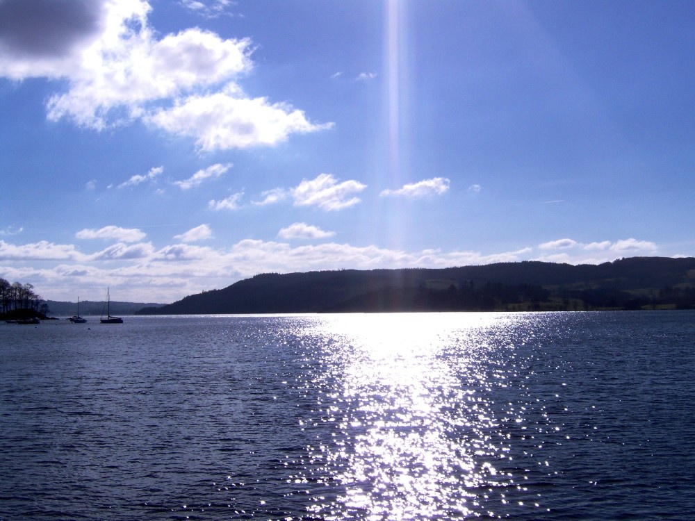
[[[367,188],[359,181],[338,180],[331,174],[319,174],[316,179],[304,179],[290,193],[295,206],[318,206],[324,210],[342,210],[358,204],[359,197],[351,197]]]

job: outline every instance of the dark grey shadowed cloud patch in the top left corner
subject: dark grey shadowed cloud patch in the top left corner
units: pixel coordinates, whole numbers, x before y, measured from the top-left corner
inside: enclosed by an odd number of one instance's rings
[[[0,46],[19,55],[61,56],[99,30],[101,0],[0,0]]]

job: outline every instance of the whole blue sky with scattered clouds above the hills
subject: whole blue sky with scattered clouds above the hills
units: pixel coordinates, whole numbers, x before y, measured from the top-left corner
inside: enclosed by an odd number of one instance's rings
[[[0,276],[694,256],[690,1],[0,0]]]

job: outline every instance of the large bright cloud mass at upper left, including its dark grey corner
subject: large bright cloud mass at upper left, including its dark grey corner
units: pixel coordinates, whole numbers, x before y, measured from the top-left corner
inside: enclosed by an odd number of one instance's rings
[[[211,13],[231,5],[188,1]],[[273,145],[327,129],[301,110],[251,99],[236,83],[252,69],[250,40],[189,28],[158,35],[145,0],[0,1],[0,77],[67,80],[47,101],[51,121],[106,129],[142,119],[195,139],[202,151]],[[37,31],[40,28],[41,31]]]

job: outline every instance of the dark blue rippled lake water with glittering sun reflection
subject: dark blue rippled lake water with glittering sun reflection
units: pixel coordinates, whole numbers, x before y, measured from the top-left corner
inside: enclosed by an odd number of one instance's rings
[[[0,520],[685,520],[695,313],[0,324]]]

